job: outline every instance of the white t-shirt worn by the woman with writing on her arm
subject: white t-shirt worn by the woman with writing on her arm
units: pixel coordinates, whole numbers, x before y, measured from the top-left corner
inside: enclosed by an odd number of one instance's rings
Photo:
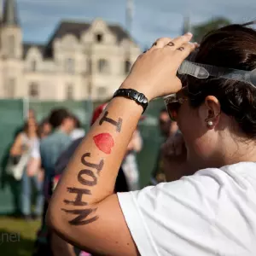
[[[119,193],[142,256],[255,256],[256,163]]]

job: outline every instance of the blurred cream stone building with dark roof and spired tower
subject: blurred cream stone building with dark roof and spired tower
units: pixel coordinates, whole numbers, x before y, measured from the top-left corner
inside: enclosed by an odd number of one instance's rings
[[[3,3],[0,98],[104,100],[140,55],[125,30],[104,20],[63,20],[45,45],[22,40],[15,0]]]

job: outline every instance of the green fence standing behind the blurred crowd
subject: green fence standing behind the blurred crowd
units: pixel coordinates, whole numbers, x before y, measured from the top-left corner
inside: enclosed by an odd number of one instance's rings
[[[153,171],[161,137],[158,131],[158,115],[163,108],[162,101],[151,102],[145,113],[146,119],[139,123],[143,136],[143,150],[137,155],[141,186],[148,185]],[[89,129],[93,104],[91,102],[26,102],[22,100],[0,100],[0,214],[13,213],[19,208],[20,183],[7,176],[5,166],[9,148],[24,121],[24,113],[28,108],[35,110],[38,121],[44,119],[52,108],[68,108],[77,115],[86,131]]]

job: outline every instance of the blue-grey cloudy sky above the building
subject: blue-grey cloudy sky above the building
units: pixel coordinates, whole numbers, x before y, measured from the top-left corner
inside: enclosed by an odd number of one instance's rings
[[[3,1],[3,0],[0,0]],[[16,0],[24,41],[44,43],[61,20],[91,21],[98,17],[125,26],[126,0]],[[131,35],[148,47],[156,38],[176,37],[184,15],[192,24],[216,16],[232,22],[256,19],[255,0],[133,0]]]

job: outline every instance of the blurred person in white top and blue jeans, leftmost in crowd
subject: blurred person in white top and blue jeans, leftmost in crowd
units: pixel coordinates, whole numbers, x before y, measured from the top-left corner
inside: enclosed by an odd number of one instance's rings
[[[10,149],[10,156],[12,158],[18,158],[26,155],[26,161],[24,161],[24,169],[21,177],[21,213],[23,218],[31,220],[32,218],[39,218],[43,212],[43,188],[40,180],[40,173],[38,168],[32,168],[29,161],[32,157],[32,148],[38,145],[38,125],[34,118],[27,120],[24,125],[23,131],[15,138],[15,143]],[[32,184],[36,188],[36,205],[34,213],[32,214]]]

